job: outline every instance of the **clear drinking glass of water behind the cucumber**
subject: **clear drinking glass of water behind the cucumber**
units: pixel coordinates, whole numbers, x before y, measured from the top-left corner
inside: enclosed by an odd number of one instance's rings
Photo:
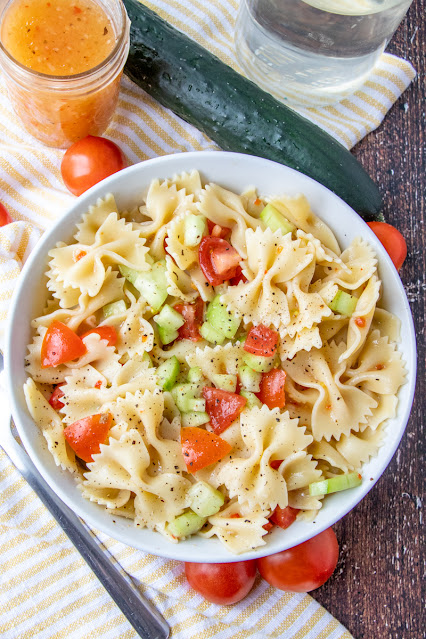
[[[235,29],[247,75],[299,105],[336,103],[366,80],[412,0],[241,0]]]

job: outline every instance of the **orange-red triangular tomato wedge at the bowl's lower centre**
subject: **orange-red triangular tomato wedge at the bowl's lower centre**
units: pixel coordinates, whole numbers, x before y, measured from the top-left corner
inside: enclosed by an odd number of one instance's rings
[[[210,466],[227,455],[232,446],[204,428],[185,426],[181,429],[182,453],[189,473]]]

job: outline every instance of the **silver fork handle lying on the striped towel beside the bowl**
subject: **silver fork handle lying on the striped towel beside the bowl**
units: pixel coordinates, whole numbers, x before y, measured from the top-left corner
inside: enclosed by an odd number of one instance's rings
[[[0,370],[2,369],[3,356],[0,352]],[[68,535],[138,635],[143,639],[167,639],[170,632],[169,626],[162,615],[140,594],[130,577],[127,580],[115,568],[79,517],[52,491],[26,451],[18,444],[11,430],[12,417],[2,390],[0,390],[0,399],[3,404],[0,415],[0,446],[13,465]]]

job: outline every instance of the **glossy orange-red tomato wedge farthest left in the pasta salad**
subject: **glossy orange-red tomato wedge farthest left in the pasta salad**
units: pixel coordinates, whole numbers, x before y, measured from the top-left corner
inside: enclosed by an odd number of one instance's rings
[[[71,362],[85,352],[86,347],[81,338],[66,324],[55,320],[47,329],[41,345],[41,367]]]

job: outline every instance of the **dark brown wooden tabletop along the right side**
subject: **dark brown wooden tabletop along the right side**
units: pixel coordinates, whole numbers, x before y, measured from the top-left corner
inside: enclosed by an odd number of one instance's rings
[[[421,639],[424,616],[423,425],[425,388],[426,0],[414,0],[388,47],[409,60],[416,80],[354,154],[384,197],[386,220],[403,233],[400,275],[414,316],[416,396],[405,436],[367,497],[335,526],[341,554],[334,576],[311,593],[355,639]],[[422,597],[423,590],[423,597]]]

